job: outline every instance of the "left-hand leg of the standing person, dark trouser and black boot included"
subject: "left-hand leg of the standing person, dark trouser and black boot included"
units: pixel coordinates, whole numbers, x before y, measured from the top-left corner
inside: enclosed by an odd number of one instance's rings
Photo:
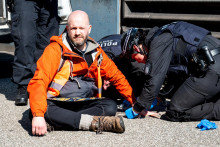
[[[15,44],[13,81],[18,84],[16,105],[26,105],[28,99],[27,85],[33,77],[31,66],[34,62],[33,52],[36,48],[36,1],[14,0],[12,11],[12,37]]]

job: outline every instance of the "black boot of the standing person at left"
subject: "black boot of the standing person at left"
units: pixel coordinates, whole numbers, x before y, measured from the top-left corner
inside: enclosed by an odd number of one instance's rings
[[[28,101],[27,86],[18,86],[18,92],[15,100],[16,106],[25,106]]]

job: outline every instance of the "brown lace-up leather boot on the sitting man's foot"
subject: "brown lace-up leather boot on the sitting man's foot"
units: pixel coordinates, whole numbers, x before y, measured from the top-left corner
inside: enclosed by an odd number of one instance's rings
[[[90,130],[101,134],[102,131],[123,133],[125,131],[124,121],[121,116],[94,116]]]

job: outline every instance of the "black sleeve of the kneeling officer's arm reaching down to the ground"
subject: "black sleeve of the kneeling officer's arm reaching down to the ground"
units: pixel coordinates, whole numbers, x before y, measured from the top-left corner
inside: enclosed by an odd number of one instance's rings
[[[152,40],[146,63],[151,68],[146,74],[141,95],[134,105],[136,111],[149,110],[154,98],[158,96],[173,56],[173,43],[173,36],[169,32],[164,32]]]

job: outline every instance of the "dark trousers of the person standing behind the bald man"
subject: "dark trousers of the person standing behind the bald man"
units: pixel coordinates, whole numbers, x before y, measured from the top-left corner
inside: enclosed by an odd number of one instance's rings
[[[58,35],[57,8],[57,0],[14,0],[11,33],[15,44],[15,83],[28,85],[50,37]]]

